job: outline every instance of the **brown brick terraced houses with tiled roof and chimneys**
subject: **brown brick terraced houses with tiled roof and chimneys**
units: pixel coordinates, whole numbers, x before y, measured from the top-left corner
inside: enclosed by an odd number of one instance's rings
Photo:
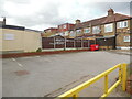
[[[130,30],[132,16],[108,10],[108,15],[86,22],[76,20],[70,37],[95,40],[100,48],[130,48]]]

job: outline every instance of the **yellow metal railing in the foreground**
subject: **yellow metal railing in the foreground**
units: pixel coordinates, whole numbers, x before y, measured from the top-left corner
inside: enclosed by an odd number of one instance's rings
[[[119,68],[119,79],[118,81],[116,81],[110,88],[108,88],[108,75],[114,70]],[[125,90],[125,82],[127,82],[127,64],[118,64],[114,67],[101,73],[100,75],[97,75],[96,77],[87,80],[86,82],[66,91],[65,94],[58,96],[57,98],[68,98],[68,97],[73,97],[73,98],[77,98],[79,97],[78,94],[87,88],[88,86],[90,86],[91,84],[94,84],[95,81],[99,80],[100,78],[105,77],[105,91],[103,95],[101,96],[101,98],[107,97],[119,84],[122,85],[122,90]]]

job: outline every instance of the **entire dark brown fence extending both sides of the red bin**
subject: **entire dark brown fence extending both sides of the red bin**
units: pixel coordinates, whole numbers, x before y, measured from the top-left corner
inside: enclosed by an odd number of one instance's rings
[[[96,40],[65,38],[63,36],[43,37],[42,48],[89,48],[91,44],[99,44],[99,48],[114,48],[114,37],[100,37]]]

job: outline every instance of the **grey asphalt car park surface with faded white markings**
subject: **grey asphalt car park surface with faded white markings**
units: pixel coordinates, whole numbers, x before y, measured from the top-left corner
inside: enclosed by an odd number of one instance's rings
[[[82,77],[90,79],[119,63],[130,63],[130,56],[101,51],[4,58],[2,96],[44,97]],[[110,75],[110,84],[117,75],[118,70]]]

